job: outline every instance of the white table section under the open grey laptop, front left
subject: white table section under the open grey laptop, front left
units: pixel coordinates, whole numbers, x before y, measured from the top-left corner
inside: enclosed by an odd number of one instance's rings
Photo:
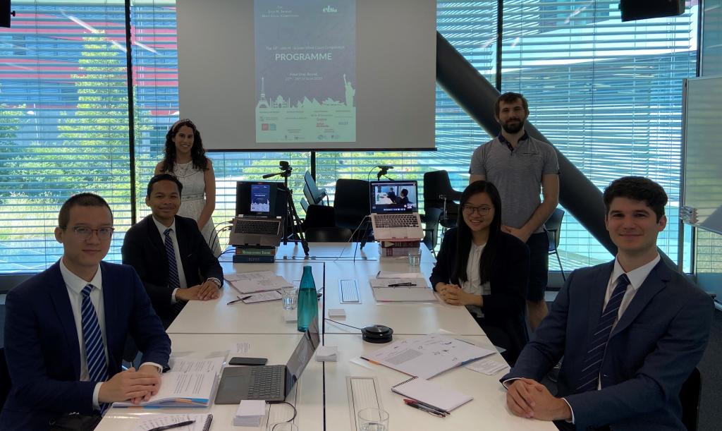
[[[251,344],[247,354],[238,356],[267,357],[269,365],[285,364],[295,349],[301,334],[282,334],[274,336],[265,335],[198,335],[198,334],[171,334],[173,352],[222,352],[223,354],[231,344],[247,342]],[[303,371],[301,378],[289,393],[286,401],[294,404],[297,416],[294,423],[300,430],[323,430],[323,364],[311,360]],[[133,428],[149,414],[177,414],[177,413],[211,413],[213,422],[211,430],[266,430],[270,420],[282,422],[292,417],[292,409],[285,404],[271,404],[269,414],[264,418],[261,427],[233,427],[232,418],[238,405],[216,405],[203,409],[110,409],[103,421],[96,428],[97,431],[133,430]]]

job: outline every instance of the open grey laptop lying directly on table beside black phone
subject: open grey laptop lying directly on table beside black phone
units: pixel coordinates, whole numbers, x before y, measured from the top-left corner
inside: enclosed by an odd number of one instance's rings
[[[262,399],[270,403],[285,401],[316,352],[319,341],[318,318],[314,318],[286,365],[225,367],[215,403],[238,404],[244,399]]]

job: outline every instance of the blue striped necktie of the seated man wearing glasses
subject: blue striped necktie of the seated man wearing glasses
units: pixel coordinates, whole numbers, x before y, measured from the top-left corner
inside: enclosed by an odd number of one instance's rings
[[[81,292],[83,300],[80,305],[80,323],[83,327],[88,377],[92,382],[104,382],[108,380],[108,365],[105,363],[103,334],[100,333],[100,324],[97,321],[95,307],[90,301],[90,291],[94,288],[95,286],[88,284]],[[108,409],[108,404],[100,404],[101,412],[104,412],[105,409]]]

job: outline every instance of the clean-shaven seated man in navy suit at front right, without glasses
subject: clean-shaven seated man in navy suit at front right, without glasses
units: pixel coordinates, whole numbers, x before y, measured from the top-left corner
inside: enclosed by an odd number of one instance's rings
[[[561,430],[685,430],[679,391],[707,346],[714,307],[661,261],[666,202],[647,178],[606,188],[604,220],[617,258],[567,279],[502,378],[513,414],[555,420]],[[560,360],[553,396],[538,382]]]

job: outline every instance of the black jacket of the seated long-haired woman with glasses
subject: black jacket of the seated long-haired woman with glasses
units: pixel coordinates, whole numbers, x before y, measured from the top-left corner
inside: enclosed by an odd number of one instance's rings
[[[456,275],[457,228],[446,232],[431,272],[431,285],[459,284]],[[529,284],[529,248],[513,235],[500,232],[490,277],[490,295],[484,299],[484,323],[505,332],[511,342],[509,357],[516,359],[529,336],[526,332],[526,288]]]

